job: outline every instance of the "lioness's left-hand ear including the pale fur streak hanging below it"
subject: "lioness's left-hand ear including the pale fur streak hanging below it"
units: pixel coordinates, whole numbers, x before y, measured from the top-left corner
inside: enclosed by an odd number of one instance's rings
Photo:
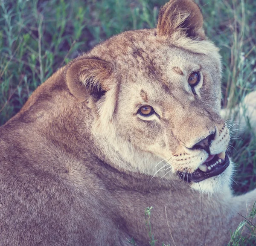
[[[102,119],[112,119],[116,105],[113,66],[99,58],[79,58],[67,65],[66,81],[78,101],[87,102]]]

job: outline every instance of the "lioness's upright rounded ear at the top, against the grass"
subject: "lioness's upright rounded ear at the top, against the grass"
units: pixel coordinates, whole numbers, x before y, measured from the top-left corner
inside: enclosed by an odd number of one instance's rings
[[[170,37],[174,33],[195,40],[204,40],[203,16],[193,0],[170,0],[159,12],[157,35]]]

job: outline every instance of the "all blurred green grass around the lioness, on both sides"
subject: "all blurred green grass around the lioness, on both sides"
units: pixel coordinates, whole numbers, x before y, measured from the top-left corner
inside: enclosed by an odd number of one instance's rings
[[[166,1],[0,0],[0,125],[38,85],[82,52],[119,32],[155,27]],[[256,90],[256,1],[195,1],[207,36],[221,48],[223,107],[232,108]],[[256,138],[249,124],[240,138],[230,142],[236,193],[256,187]],[[236,235],[232,245],[245,245],[241,240]]]

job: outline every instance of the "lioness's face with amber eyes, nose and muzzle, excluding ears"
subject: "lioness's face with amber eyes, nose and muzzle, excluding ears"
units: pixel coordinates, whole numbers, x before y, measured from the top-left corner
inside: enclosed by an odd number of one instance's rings
[[[163,177],[170,171],[195,188],[199,188],[195,182],[213,180],[222,186],[221,177],[226,179],[222,173],[229,165],[225,151],[230,137],[219,114],[218,62],[172,46],[155,52],[146,47],[141,48],[141,56],[129,57],[140,64],[139,69],[129,70],[128,66],[121,69],[126,72],[120,72],[114,117],[118,136],[166,160],[152,175]],[[148,61],[155,65],[147,71]],[[196,81],[192,84],[189,78]]]

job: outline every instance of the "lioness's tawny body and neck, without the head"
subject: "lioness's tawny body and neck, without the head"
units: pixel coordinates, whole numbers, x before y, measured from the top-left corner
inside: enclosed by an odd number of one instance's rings
[[[147,206],[153,206],[154,236],[165,243],[172,243],[170,232],[176,245],[200,245],[204,237],[207,245],[228,242],[229,229],[241,220],[230,190],[218,199],[201,197],[178,178],[150,181],[109,167],[92,153],[90,135],[79,137],[83,109],[74,114],[62,81],[59,71],[31,98],[52,95],[44,105],[51,121],[33,103],[0,128],[0,245],[129,245],[126,239],[133,237],[144,246]],[[60,98],[66,101],[56,107]],[[245,204],[239,211],[246,214]]]

